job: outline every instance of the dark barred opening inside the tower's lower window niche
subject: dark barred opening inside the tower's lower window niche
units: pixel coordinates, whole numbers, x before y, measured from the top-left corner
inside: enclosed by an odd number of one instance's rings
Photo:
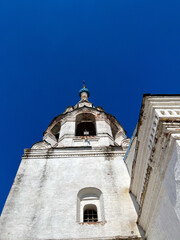
[[[88,204],[84,206],[83,222],[98,222],[96,205]]]

